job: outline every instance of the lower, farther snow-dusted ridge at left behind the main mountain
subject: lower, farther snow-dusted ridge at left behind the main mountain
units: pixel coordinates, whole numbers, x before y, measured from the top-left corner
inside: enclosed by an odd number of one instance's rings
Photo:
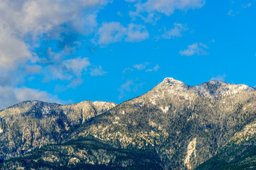
[[[100,115],[115,103],[83,101],[61,106],[25,101],[0,112],[0,158],[11,157],[60,143],[85,120]]]

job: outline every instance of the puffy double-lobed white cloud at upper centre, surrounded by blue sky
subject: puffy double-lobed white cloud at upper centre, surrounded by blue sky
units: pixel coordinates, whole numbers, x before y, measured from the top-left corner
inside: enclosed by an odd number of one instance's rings
[[[128,27],[124,27],[118,22],[110,22],[102,23],[92,42],[100,45],[108,45],[124,39],[127,42],[139,42],[146,38],[149,38],[149,33],[142,25],[130,23]]]

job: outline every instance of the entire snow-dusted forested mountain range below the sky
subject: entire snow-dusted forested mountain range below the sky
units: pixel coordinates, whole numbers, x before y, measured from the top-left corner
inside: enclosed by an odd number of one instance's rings
[[[256,90],[166,78],[119,105],[0,112],[1,169],[256,169]]]

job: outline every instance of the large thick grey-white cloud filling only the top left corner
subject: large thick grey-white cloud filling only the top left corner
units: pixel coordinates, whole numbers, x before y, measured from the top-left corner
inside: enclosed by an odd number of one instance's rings
[[[33,64],[41,64],[43,60],[38,60],[31,49],[40,45],[42,36],[60,40],[60,33],[65,31],[73,30],[83,35],[92,33],[97,27],[97,11],[107,2],[108,0],[1,0],[1,71],[11,70],[13,74],[17,74],[16,72],[22,71],[21,65],[30,64],[33,67]],[[38,73],[38,69],[30,69],[26,74],[33,74],[31,71]]]

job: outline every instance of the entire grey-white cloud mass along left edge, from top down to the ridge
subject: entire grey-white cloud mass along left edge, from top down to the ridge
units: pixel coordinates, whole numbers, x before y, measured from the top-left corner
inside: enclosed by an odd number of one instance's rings
[[[0,1],[0,107],[23,100],[58,101],[46,91],[16,88],[31,74],[45,79],[82,82],[87,58],[66,58],[75,48],[38,57],[33,53],[42,40],[63,40],[63,33],[88,35],[97,28],[97,11],[109,0],[1,0]],[[43,73],[42,73],[43,72]],[[32,78],[31,78],[32,79]]]

